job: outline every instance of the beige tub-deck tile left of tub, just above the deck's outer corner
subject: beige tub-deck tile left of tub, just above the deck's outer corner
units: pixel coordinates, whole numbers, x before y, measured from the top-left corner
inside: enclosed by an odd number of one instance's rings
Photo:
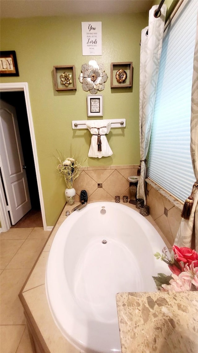
[[[48,256],[49,252],[47,251],[41,254],[24,288],[24,292],[45,283],[45,269],[48,261]]]

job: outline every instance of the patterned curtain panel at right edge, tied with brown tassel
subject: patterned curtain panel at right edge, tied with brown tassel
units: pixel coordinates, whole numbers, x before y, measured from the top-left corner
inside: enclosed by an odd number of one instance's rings
[[[192,76],[190,149],[196,182],[191,196],[185,202],[187,206],[191,204],[190,216],[186,217],[188,219],[182,218],[174,245],[192,247],[198,252],[198,16]]]

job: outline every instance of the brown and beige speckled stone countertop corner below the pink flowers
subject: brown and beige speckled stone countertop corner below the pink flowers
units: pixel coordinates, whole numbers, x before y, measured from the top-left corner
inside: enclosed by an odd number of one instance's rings
[[[197,292],[118,293],[116,301],[122,353],[198,352]]]

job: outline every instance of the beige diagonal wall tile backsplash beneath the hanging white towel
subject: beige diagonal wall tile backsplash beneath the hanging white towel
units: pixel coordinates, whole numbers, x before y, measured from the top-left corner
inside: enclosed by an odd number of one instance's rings
[[[80,201],[81,190],[86,190],[89,201],[111,201],[115,196],[130,198],[128,177],[137,175],[138,165],[81,167],[74,181],[75,201]],[[102,184],[102,187],[98,184]]]

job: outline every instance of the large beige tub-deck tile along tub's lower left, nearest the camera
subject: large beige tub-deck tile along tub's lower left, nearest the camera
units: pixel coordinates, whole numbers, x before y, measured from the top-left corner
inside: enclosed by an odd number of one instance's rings
[[[50,352],[80,353],[80,349],[72,346],[57,328],[49,309],[45,286],[39,286],[23,293],[27,305],[34,313],[34,318]],[[43,325],[46,322],[47,325]]]

